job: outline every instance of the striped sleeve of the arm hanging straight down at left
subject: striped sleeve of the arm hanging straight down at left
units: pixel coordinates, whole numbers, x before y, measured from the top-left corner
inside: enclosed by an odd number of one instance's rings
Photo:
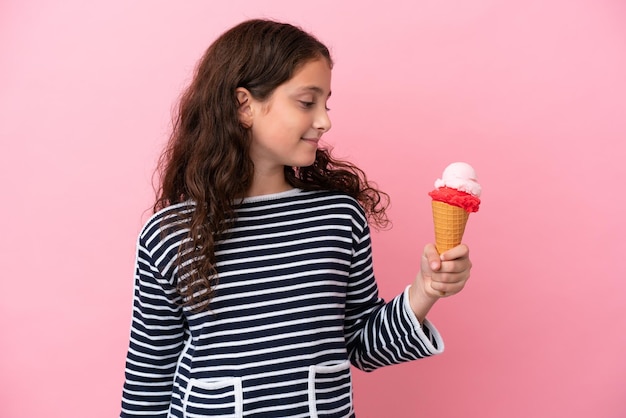
[[[169,264],[159,229],[148,226],[137,243],[130,345],[121,417],[166,417],[186,336],[179,296],[160,264]]]

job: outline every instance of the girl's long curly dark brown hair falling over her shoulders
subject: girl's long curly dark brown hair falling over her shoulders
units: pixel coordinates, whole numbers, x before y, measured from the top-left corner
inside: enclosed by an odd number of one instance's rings
[[[158,162],[157,212],[185,201],[195,202],[186,225],[192,263],[179,257],[177,288],[184,304],[208,306],[218,272],[214,247],[235,221],[237,202],[246,195],[254,175],[249,155],[250,129],[238,116],[236,89],[267,100],[307,62],[330,52],[312,35],[290,24],[249,20],[222,34],[204,53],[183,92],[169,142]],[[304,190],[333,190],[357,199],[371,223],[388,224],[388,196],[368,182],[358,167],[333,159],[318,149],[308,167],[285,167],[285,178]]]

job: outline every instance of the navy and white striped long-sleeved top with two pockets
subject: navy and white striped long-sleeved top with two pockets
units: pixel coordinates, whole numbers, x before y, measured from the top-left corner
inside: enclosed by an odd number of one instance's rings
[[[216,246],[209,310],[182,307],[176,214],[193,209],[168,207],[139,235],[122,417],[353,417],[350,364],[443,350],[407,291],[378,296],[363,209],[336,192],[245,199]]]

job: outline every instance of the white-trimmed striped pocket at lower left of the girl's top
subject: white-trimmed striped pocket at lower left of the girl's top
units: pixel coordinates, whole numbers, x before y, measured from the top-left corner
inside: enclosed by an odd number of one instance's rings
[[[243,416],[241,378],[189,380],[183,399],[183,413],[185,418],[241,418]]]

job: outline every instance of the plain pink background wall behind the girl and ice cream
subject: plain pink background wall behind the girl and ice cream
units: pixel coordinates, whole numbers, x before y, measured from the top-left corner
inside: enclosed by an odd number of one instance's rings
[[[170,111],[210,42],[251,17],[332,48],[328,142],[393,202],[373,237],[386,298],[432,240],[442,169],[470,162],[484,186],[472,279],[431,314],[446,352],[355,372],[358,416],[626,416],[621,0],[4,0],[0,416],[118,413]]]

